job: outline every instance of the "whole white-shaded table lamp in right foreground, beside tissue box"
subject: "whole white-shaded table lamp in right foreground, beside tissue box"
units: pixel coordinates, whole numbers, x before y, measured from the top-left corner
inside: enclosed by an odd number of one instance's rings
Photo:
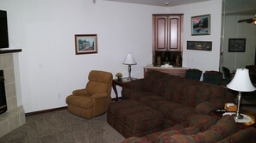
[[[227,87],[229,89],[232,89],[234,91],[238,92],[237,95],[237,110],[236,113],[234,113],[232,116],[236,119],[242,119],[243,116],[240,115],[240,100],[241,92],[253,92],[256,90],[256,88],[253,86],[252,81],[250,80],[249,77],[249,70],[248,69],[236,69],[236,72],[234,74],[233,80],[231,80]]]

